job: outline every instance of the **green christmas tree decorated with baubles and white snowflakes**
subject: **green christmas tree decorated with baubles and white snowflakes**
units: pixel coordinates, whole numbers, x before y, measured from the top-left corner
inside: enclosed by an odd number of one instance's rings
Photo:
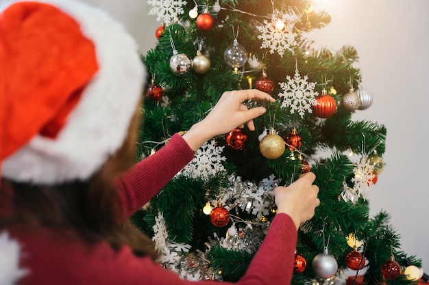
[[[273,188],[308,171],[321,205],[298,232],[293,284],[416,284],[421,261],[400,249],[366,196],[382,174],[386,128],[355,121],[371,107],[352,46],[315,49],[306,32],[330,22],[310,1],[148,1],[158,44],[142,55],[150,78],[138,157],[206,116],[225,91],[276,98],[246,128],[215,137],[132,220],[164,267],[189,280],[238,280],[275,215]],[[247,103],[254,107],[256,103]],[[273,264],[273,266],[275,266]]]

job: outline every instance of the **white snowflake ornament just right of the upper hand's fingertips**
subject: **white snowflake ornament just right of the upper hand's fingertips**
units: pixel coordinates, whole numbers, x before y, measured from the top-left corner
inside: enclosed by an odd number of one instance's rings
[[[297,112],[301,118],[304,118],[306,112],[312,113],[312,105],[316,102],[315,82],[308,82],[308,77],[301,78],[298,70],[295,71],[295,77],[286,76],[287,82],[280,82],[283,92],[278,96],[282,98],[282,109],[289,107],[291,113]]]

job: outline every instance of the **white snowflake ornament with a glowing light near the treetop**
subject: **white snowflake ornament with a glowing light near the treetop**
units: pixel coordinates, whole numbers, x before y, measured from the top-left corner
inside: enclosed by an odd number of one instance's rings
[[[279,20],[285,23],[281,31],[273,27]],[[280,12],[275,11],[271,21],[264,20],[262,21],[263,25],[256,26],[256,29],[260,31],[258,39],[262,40],[260,48],[269,49],[270,53],[277,52],[281,57],[283,57],[284,51],[292,51],[292,47],[297,45],[295,40],[297,33],[294,32],[296,21],[295,15],[280,14]]]

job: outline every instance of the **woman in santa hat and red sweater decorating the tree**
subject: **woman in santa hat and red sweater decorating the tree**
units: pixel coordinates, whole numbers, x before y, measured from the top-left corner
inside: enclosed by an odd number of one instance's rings
[[[0,283],[188,284],[124,221],[208,139],[253,131],[266,110],[245,100],[274,99],[225,92],[204,120],[132,166],[144,78],[132,38],[77,1],[13,1],[0,12],[0,231],[21,245],[19,268]],[[314,180],[275,189],[277,215],[238,284],[290,283],[297,228],[319,205]]]

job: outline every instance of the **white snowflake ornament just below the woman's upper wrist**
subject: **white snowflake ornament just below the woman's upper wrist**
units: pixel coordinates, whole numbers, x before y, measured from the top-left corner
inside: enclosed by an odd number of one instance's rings
[[[222,161],[225,161],[226,158],[221,155],[223,148],[225,146],[216,146],[214,139],[206,142],[197,150],[194,159],[182,169],[181,174],[195,179],[208,179],[219,172],[225,172]]]

